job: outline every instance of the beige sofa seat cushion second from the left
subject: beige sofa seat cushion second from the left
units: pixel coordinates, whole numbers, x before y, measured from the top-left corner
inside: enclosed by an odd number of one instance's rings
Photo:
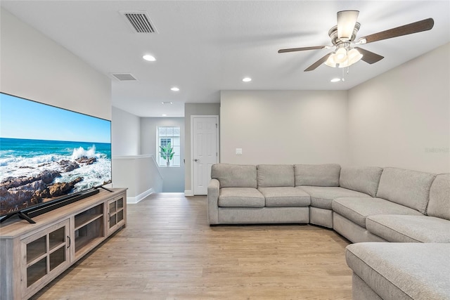
[[[311,204],[309,194],[293,187],[258,188],[266,198],[266,207],[307,207]]]

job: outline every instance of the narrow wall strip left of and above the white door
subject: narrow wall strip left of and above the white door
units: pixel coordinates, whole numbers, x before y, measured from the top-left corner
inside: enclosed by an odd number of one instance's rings
[[[191,116],[193,115],[219,115],[220,103],[186,103],[184,105],[184,134],[186,164],[184,170],[184,188],[188,195],[193,194],[192,178],[191,178]]]

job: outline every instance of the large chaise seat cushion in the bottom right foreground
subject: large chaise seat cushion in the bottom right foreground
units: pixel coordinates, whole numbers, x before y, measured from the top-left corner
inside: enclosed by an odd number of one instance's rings
[[[449,299],[450,244],[363,242],[349,244],[354,274],[382,299]]]

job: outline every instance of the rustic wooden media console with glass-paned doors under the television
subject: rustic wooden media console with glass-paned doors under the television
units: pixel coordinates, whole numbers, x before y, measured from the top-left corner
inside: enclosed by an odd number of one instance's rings
[[[28,299],[127,224],[127,190],[0,226],[0,300]]]

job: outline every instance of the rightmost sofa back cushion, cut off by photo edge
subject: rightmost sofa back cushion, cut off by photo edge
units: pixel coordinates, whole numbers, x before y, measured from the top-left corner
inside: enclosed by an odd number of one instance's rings
[[[427,214],[450,220],[450,174],[439,174],[433,181]]]

